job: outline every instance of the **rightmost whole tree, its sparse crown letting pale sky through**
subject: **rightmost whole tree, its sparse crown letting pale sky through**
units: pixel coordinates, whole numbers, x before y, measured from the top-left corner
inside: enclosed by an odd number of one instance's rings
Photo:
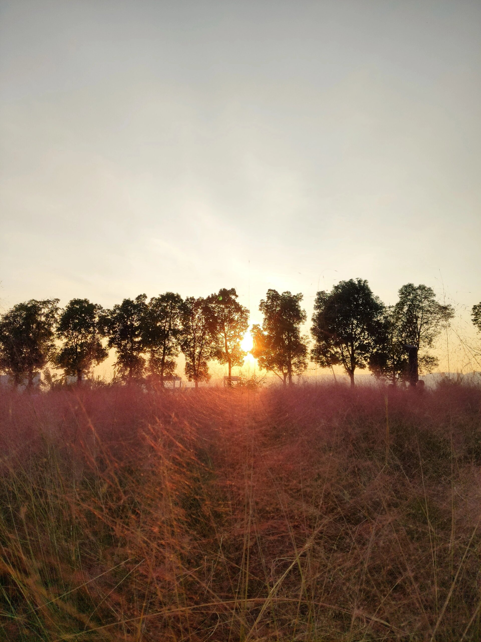
[[[400,319],[400,334],[405,347],[412,346],[421,372],[432,372],[437,366],[437,358],[429,352],[435,339],[454,316],[453,307],[437,302],[434,290],[420,284],[403,285],[398,291],[399,300],[394,306]],[[409,350],[409,348],[407,347]],[[418,369],[411,375],[412,385],[416,385]]]

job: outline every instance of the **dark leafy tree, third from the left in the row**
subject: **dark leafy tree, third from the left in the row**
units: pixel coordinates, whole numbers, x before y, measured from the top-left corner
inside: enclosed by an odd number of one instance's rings
[[[108,338],[107,347],[117,353],[115,366],[124,381],[131,383],[141,379],[146,360],[144,347],[144,319],[147,295],[124,299],[107,310],[101,320],[103,334]]]

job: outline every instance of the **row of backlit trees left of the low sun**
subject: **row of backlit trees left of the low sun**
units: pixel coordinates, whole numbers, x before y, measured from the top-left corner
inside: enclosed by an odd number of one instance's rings
[[[164,385],[185,356],[185,374],[196,387],[208,381],[208,361],[242,365],[240,342],[248,330],[249,311],[232,288],[210,297],[182,297],[173,292],[124,299],[103,309],[88,299],[30,300],[13,306],[0,320],[0,368],[15,385],[33,385],[35,372],[51,364],[78,383],[115,350],[118,376],[131,383],[149,377]]]

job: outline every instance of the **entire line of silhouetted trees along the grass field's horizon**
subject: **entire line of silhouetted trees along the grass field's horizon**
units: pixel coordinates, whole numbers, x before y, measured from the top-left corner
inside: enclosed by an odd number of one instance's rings
[[[35,372],[52,365],[80,385],[108,351],[125,383],[146,381],[164,386],[176,370],[180,352],[185,374],[197,387],[210,379],[208,362],[241,366],[247,352],[241,342],[249,327],[249,310],[235,288],[204,297],[166,292],[147,299],[140,294],[104,309],[88,299],[59,299],[16,304],[0,318],[0,370],[15,386],[33,386]],[[363,279],[341,281],[319,291],[310,338],[301,333],[307,320],[303,295],[268,290],[259,304],[262,324],[253,325],[251,354],[261,369],[283,385],[302,374],[311,360],[322,368],[341,365],[354,385],[355,370],[369,369],[392,385],[432,372],[435,339],[448,327],[453,308],[439,303],[432,288],[408,283],[398,302],[385,306]],[[481,331],[481,302],[473,306],[473,323]]]

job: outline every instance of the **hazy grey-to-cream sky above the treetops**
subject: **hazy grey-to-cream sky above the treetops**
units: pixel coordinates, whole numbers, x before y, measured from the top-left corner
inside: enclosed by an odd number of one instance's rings
[[[3,0],[0,20],[4,307],[233,286],[255,320],[272,287],[310,316],[350,277],[481,300],[479,1]]]

